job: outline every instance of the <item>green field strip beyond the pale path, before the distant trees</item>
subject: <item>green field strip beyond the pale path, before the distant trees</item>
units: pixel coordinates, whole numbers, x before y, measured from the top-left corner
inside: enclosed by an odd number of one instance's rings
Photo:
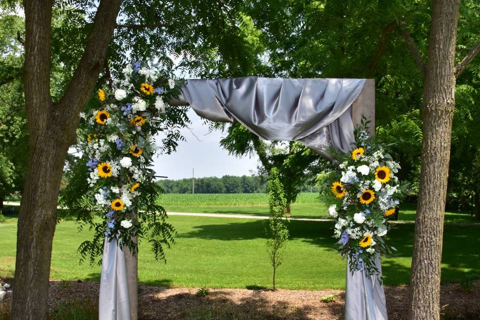
[[[199,212],[268,215],[268,194],[266,193],[167,193],[158,202],[169,212]],[[402,203],[398,220],[414,221],[416,204]],[[328,208],[318,193],[302,192],[291,205],[292,217],[325,218]],[[477,222],[469,212],[447,210],[445,222]]]

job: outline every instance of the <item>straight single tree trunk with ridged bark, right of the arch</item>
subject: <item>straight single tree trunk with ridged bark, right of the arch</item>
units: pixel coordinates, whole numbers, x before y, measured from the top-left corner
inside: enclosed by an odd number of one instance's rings
[[[459,0],[435,0],[423,86],[423,141],[409,319],[439,319],[443,218],[455,104],[455,43]]]

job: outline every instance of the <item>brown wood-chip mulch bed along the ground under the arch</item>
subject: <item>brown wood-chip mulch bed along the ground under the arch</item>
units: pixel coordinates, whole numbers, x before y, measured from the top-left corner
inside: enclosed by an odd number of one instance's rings
[[[5,280],[3,280],[5,282]],[[12,282],[7,279],[6,282]],[[13,285],[12,285],[13,287]],[[94,306],[98,298],[98,282],[50,281],[49,307],[78,301]],[[14,288],[13,288],[14,289]],[[209,289],[209,294],[197,296],[195,288],[140,285],[139,319],[212,319],[212,320],[306,320],[342,319],[344,291],[342,290],[249,290]],[[321,298],[337,294],[332,302]],[[388,316],[391,320],[406,319],[407,286],[385,287]],[[11,295],[0,302],[8,307]],[[480,319],[480,282],[471,292],[462,291],[457,284],[441,286],[442,318]]]

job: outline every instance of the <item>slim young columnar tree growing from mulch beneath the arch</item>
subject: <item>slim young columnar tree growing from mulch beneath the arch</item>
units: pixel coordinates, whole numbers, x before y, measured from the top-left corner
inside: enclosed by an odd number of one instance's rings
[[[266,246],[270,255],[270,263],[273,267],[273,290],[275,290],[275,272],[282,263],[283,253],[289,236],[288,219],[285,216],[286,200],[276,168],[270,171],[268,189],[270,217],[265,227],[267,234]]]

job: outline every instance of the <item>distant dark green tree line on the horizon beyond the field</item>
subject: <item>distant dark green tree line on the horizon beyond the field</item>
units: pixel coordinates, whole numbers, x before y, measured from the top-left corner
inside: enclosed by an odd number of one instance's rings
[[[268,178],[261,175],[223,175],[195,178],[195,193],[265,193]],[[191,193],[191,178],[159,180],[166,193]],[[305,184],[302,192],[317,192],[315,186]]]

